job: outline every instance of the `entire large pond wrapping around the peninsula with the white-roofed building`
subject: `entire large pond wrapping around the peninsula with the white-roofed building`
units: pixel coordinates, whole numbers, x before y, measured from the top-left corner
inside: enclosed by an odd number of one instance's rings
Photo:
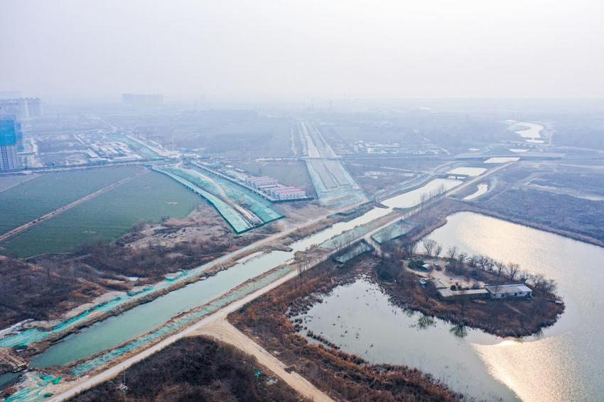
[[[375,363],[408,364],[487,401],[602,401],[604,248],[475,213],[456,213],[430,236],[444,249],[517,262],[559,284],[566,311],[541,334],[503,339],[392,306],[361,279],[339,286],[304,316],[308,329]]]

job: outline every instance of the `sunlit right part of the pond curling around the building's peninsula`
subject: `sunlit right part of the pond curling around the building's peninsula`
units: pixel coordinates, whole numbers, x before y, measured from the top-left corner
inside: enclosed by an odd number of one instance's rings
[[[604,396],[604,249],[495,218],[457,213],[431,236],[542,272],[559,284],[566,311],[524,342],[474,345],[495,378],[524,401],[602,401]]]

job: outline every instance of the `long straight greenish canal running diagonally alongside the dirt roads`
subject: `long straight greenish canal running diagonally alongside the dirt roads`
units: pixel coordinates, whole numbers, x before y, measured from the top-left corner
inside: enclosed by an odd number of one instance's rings
[[[273,251],[239,261],[233,267],[217,273],[214,277],[188,284],[149,303],[131,308],[119,316],[109,317],[82,329],[79,333],[69,335],[45,352],[33,357],[31,364],[36,368],[67,365],[134,340],[154,328],[160,327],[179,313],[202,306],[248,279],[284,264],[293,257],[296,251],[306,250],[311,245],[319,245],[347,230],[355,229],[362,234],[364,230],[370,230],[363,225],[386,215],[391,211],[390,208],[414,206],[420,202],[421,194],[441,188],[441,186],[450,189],[460,183],[458,180],[435,179],[419,189],[384,201],[389,208],[373,208],[349,222],[336,223],[328,229],[294,242],[290,246],[293,249],[292,252]]]

